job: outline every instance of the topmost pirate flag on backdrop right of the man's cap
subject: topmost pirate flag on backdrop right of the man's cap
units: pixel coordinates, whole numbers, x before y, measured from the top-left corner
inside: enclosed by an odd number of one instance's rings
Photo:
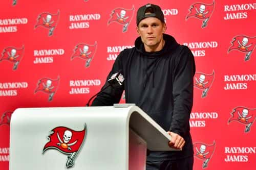
[[[204,4],[204,3],[195,3],[190,6],[189,13],[186,16],[186,20],[190,17],[196,17],[198,19],[203,20],[202,28],[207,26],[207,22],[209,21],[212,12],[214,12],[215,2],[212,4]]]

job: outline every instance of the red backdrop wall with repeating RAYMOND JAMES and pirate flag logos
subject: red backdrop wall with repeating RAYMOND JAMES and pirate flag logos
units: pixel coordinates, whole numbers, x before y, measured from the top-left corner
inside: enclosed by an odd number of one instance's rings
[[[195,55],[194,169],[255,166],[255,1],[8,0],[0,2],[1,169],[12,112],[84,106],[134,45],[136,11],[146,3],[162,8],[167,33]]]

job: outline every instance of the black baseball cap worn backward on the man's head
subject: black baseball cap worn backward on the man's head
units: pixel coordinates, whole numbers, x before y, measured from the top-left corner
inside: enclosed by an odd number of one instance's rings
[[[145,14],[145,12],[148,8],[151,8],[153,12]],[[165,22],[164,15],[163,15],[161,8],[154,4],[147,4],[138,9],[137,20],[136,20],[137,26],[139,25],[139,23],[142,19],[147,18],[147,17],[155,17],[155,18],[158,18],[159,20],[161,20],[162,22]]]

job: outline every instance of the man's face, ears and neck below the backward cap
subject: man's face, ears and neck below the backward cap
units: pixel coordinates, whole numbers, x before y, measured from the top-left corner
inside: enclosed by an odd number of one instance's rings
[[[137,32],[144,43],[146,52],[155,52],[162,49],[165,30],[165,23],[162,23],[158,18],[148,17],[140,21]]]

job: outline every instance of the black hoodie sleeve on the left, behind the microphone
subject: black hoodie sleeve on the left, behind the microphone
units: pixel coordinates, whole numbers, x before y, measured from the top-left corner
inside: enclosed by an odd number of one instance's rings
[[[121,52],[116,58],[114,65],[108,77],[106,78],[105,84],[101,89],[109,85],[108,80],[111,78],[113,74],[115,74],[119,70],[123,70],[122,62],[121,62],[122,55],[123,55],[123,52]],[[119,103],[122,96],[123,89],[124,89],[123,85],[115,89],[109,86],[108,88],[106,88],[96,96],[91,106],[112,106],[114,103]]]

